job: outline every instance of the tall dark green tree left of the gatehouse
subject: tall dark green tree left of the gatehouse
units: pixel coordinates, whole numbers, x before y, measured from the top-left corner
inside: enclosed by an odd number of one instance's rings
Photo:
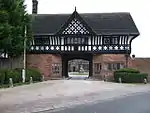
[[[10,58],[20,56],[24,39],[31,39],[31,17],[25,9],[24,0],[0,0],[0,50]]]

